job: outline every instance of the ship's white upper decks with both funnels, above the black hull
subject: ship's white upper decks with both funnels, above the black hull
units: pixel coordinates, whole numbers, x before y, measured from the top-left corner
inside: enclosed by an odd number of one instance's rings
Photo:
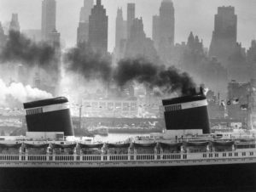
[[[253,134],[239,137],[209,134],[207,100],[202,94],[163,101],[166,133],[118,143],[94,143],[73,137],[67,103],[66,98],[56,98],[24,104],[29,132],[26,138],[0,141],[0,167],[182,167],[256,163]]]

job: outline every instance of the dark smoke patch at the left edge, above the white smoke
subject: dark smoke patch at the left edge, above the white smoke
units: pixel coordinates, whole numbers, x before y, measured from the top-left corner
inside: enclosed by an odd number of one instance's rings
[[[28,66],[40,65],[42,68],[53,65],[55,59],[55,48],[46,42],[33,42],[19,31],[9,31],[8,41],[0,53],[2,62],[20,62]]]

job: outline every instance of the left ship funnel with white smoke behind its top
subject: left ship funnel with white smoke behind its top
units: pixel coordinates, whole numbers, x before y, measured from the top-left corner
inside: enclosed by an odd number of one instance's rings
[[[65,97],[32,101],[24,104],[28,132],[63,132],[73,136],[68,100]]]

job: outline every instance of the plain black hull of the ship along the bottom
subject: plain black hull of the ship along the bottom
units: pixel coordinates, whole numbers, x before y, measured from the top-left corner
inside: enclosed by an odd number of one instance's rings
[[[255,191],[256,163],[184,167],[0,169],[0,189]]]

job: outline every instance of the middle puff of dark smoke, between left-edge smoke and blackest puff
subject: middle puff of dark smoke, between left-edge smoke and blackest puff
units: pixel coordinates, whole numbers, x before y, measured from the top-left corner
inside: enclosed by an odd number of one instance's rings
[[[87,80],[108,82],[111,79],[111,59],[94,52],[88,44],[81,43],[77,48],[69,49],[64,60],[67,70],[79,73]]]

